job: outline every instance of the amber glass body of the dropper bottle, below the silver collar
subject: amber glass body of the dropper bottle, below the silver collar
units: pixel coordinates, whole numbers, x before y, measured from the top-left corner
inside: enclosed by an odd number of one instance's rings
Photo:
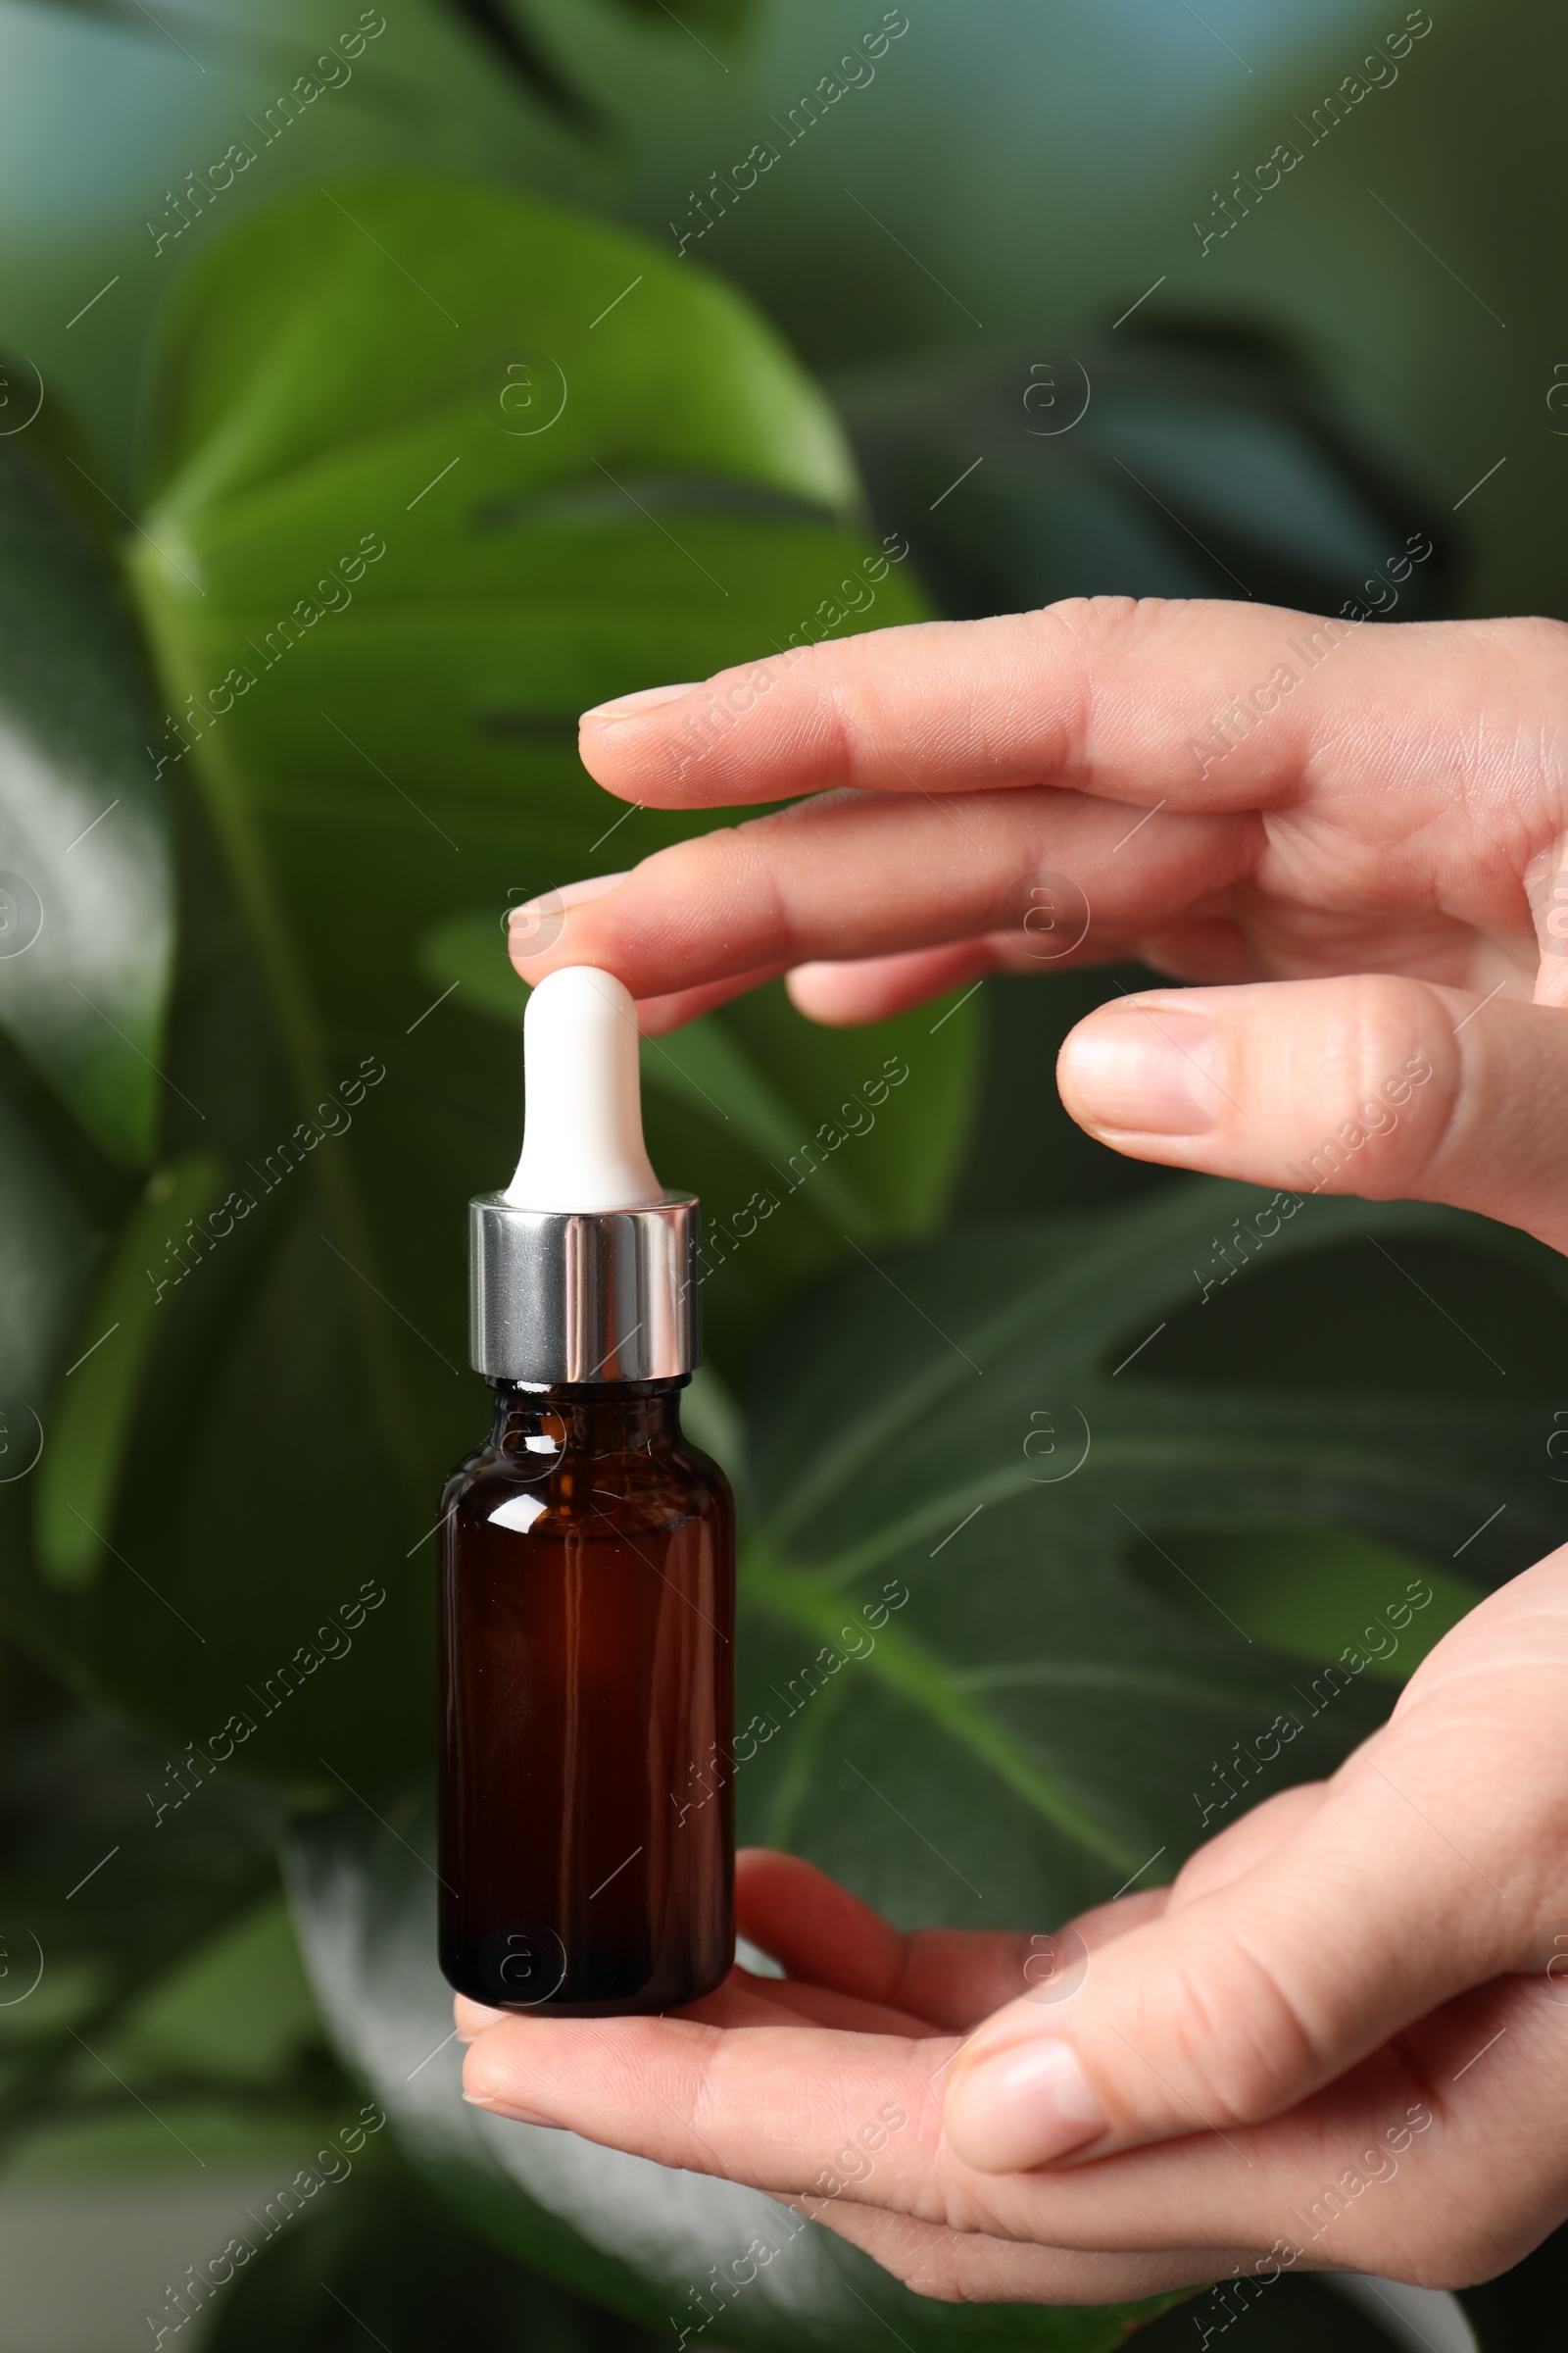
[[[491,1381],[442,1497],[440,1958],[477,2002],[670,2009],[733,1951],[733,1504],[686,1379]]]

